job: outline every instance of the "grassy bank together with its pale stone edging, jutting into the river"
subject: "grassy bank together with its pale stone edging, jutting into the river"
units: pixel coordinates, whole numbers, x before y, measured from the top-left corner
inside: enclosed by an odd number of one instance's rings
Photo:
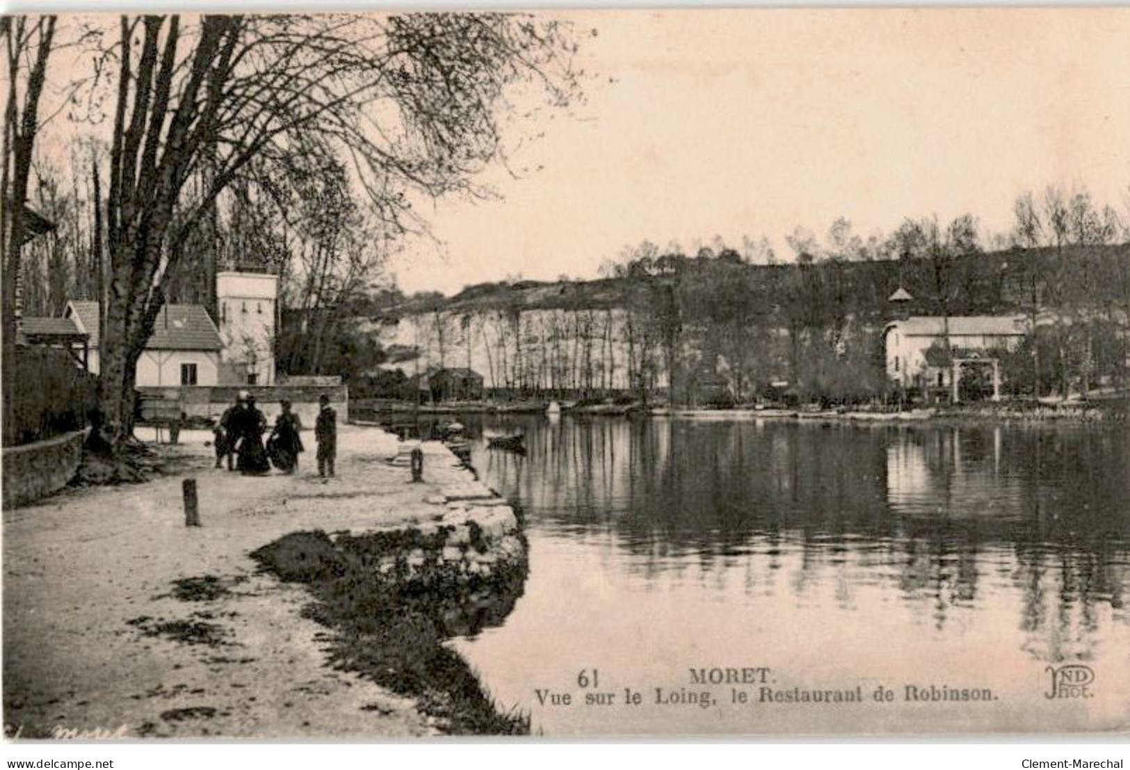
[[[407,459],[401,452],[398,459]],[[443,455],[458,461],[446,447]],[[529,717],[496,703],[442,643],[501,623],[529,571],[520,509],[466,466],[458,476],[423,499],[431,514],[329,534],[292,531],[252,557],[284,581],[307,583],[315,600],[310,616],[336,631],[333,667],[414,698],[441,732],[529,734]],[[383,620],[374,625],[374,617]]]

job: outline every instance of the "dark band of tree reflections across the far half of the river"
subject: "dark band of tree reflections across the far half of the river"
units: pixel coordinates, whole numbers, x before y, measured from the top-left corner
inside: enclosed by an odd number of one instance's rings
[[[939,630],[996,580],[1019,591],[1041,659],[1086,658],[1104,605],[1125,621],[1124,432],[592,418],[525,433],[529,455],[489,452],[487,477],[554,529],[610,530],[645,577],[697,564],[753,592],[796,559],[798,600],[829,574],[841,607],[890,583]]]

